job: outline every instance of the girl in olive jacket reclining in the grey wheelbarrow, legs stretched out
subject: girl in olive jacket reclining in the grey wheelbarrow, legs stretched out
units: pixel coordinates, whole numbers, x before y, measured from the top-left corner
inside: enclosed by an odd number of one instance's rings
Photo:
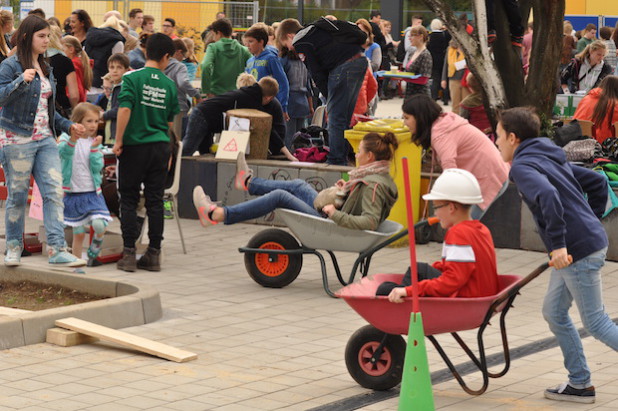
[[[389,174],[397,145],[397,139],[392,133],[366,134],[356,154],[358,167],[348,173],[350,181],[339,180],[336,184],[335,190],[340,191],[340,197],[345,198],[345,201],[338,204],[334,201],[336,204],[320,207],[320,204],[316,204],[318,192],[300,179],[280,181],[254,177],[242,152],[238,153],[236,161],[234,187],[261,197],[219,207],[204,193],[202,187],[196,186],[193,203],[204,227],[220,222],[240,223],[264,216],[277,208],[320,216],[316,208],[321,208],[321,212],[339,226],[375,230],[386,220],[397,200],[397,186]]]

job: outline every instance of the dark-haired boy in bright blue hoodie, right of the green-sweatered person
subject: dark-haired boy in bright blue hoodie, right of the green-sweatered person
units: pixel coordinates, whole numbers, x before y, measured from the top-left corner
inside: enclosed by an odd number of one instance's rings
[[[260,80],[266,76],[272,76],[279,83],[279,93],[277,100],[281,103],[286,121],[288,116],[288,98],[290,93],[290,83],[285,75],[279,57],[271,50],[266,49],[268,44],[268,32],[262,26],[253,26],[243,36],[243,41],[247,48],[253,54],[247,60],[245,72],[253,74],[256,80]]]

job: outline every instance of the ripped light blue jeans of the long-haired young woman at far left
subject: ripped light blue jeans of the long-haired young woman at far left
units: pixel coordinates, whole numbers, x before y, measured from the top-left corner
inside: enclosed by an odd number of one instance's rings
[[[43,223],[47,243],[65,247],[62,172],[58,146],[52,137],[26,144],[9,144],[1,150],[2,167],[6,174],[9,198],[6,202],[6,241],[18,241],[23,248],[24,218],[34,176],[43,198]]]

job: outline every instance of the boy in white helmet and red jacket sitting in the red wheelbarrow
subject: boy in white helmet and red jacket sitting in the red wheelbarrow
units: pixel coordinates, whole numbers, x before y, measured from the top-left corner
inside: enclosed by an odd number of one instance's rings
[[[498,292],[496,253],[491,233],[470,216],[473,204],[483,202],[478,181],[466,170],[445,170],[423,196],[446,229],[442,259],[431,266],[419,263],[419,295],[434,297],[484,297]],[[401,303],[412,295],[410,269],[401,284],[383,283],[377,295]]]

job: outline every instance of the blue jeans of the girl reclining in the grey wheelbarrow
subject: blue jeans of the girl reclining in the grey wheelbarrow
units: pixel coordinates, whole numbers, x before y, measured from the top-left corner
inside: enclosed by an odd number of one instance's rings
[[[277,208],[287,208],[314,216],[320,215],[313,208],[313,200],[318,193],[304,180],[265,180],[254,177],[249,183],[249,194],[261,197],[223,207],[225,224],[235,224],[262,217]]]

